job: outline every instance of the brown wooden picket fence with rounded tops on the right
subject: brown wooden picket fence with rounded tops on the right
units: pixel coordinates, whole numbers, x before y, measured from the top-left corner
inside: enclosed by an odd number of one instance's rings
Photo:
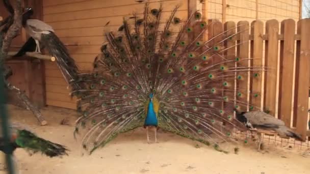
[[[297,25],[297,27],[296,27]],[[265,27],[265,30],[264,30]],[[297,30],[296,30],[297,28]],[[226,51],[227,59],[253,57],[240,66],[262,66],[267,71],[258,77],[249,75],[238,82],[238,88],[262,94],[247,94],[250,105],[269,110],[286,126],[296,129],[305,140],[310,132],[308,125],[308,97],[310,79],[310,19],[297,23],[293,19],[278,22],[275,19],[264,22],[255,20],[228,21],[224,24],[218,20],[209,20],[209,38],[229,30],[231,36],[226,46],[236,45],[236,49]],[[261,58],[261,59],[260,59]]]

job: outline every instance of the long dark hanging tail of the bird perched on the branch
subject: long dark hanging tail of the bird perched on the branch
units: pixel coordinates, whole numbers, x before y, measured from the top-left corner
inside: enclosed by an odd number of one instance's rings
[[[79,68],[76,66],[74,59],[61,40],[54,32],[42,34],[41,42],[48,49],[48,52],[56,58],[57,65],[60,68],[65,80],[70,85],[72,91],[84,89],[84,84],[79,83]]]

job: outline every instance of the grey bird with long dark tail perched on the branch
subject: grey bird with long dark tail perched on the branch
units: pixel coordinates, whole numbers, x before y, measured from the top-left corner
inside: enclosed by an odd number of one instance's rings
[[[32,8],[25,8],[22,15],[22,26],[25,31],[36,42],[37,52],[41,52],[40,45],[42,44],[48,52],[56,58],[57,65],[60,68],[67,83],[76,80],[78,68],[74,60],[70,57],[67,48],[54,33],[53,28],[45,22],[38,19],[30,19],[33,15]],[[29,45],[31,47],[31,44]],[[71,85],[72,90],[84,89],[82,84],[75,82]]]

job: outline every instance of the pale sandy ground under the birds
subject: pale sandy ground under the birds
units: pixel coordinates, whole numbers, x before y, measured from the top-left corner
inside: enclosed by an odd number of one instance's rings
[[[105,148],[91,156],[81,155],[80,143],[73,138],[76,114],[72,110],[47,107],[42,113],[48,126],[38,126],[32,113],[9,106],[11,120],[29,125],[39,136],[62,143],[71,152],[63,158],[47,158],[41,154],[29,156],[19,149],[15,152],[19,173],[310,173],[310,156],[304,150],[285,150],[267,146],[256,152],[251,145],[240,146],[238,154],[223,154],[186,138],[160,132],[160,143],[146,143],[143,129],[118,136]],[[69,126],[60,125],[69,118]],[[197,148],[198,144],[198,148]],[[3,155],[3,153],[1,153]],[[3,163],[3,162],[2,162]],[[5,173],[0,171],[0,174]]]

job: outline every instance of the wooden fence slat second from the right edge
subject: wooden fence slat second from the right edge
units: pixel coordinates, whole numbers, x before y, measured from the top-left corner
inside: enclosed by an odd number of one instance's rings
[[[278,119],[291,127],[295,46],[295,21],[293,19],[281,22],[281,35],[283,35],[283,40],[280,41]]]

